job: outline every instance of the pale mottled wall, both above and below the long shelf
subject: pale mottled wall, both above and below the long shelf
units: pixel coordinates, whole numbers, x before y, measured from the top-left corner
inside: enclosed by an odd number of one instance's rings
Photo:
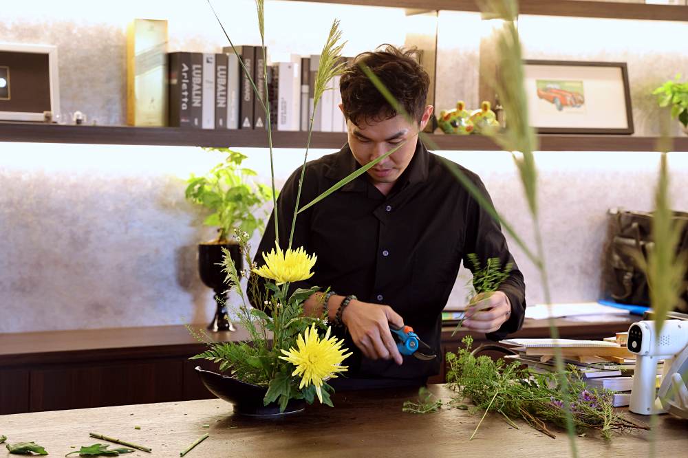
[[[218,2],[217,7],[221,17],[232,23],[235,41],[257,43],[253,2],[233,1],[231,7],[228,3]],[[56,5],[26,0],[3,6],[0,39],[58,45],[64,111],[84,111],[99,124],[120,124],[124,119],[124,28],[131,18],[169,19],[170,50],[213,52],[224,45],[212,15],[201,7],[176,10],[169,2],[131,0],[109,9],[80,0],[69,2],[72,10]],[[345,54],[404,41],[398,26],[403,21],[401,10],[268,1],[266,14],[273,60],[288,58],[290,52],[319,52],[335,16],[342,19],[345,39],[350,40]],[[298,28],[299,34],[274,32],[281,30],[280,21],[284,20]],[[556,24],[558,20],[533,17],[520,23],[528,57],[629,61],[634,106],[638,105],[634,109],[636,133],[654,133],[654,106],[647,98],[647,89],[675,72],[688,74],[686,57],[678,52],[678,45],[674,41],[648,45],[652,38],[635,31],[656,29],[651,25],[638,29],[643,21],[605,22],[621,24],[611,43],[594,39],[603,27],[597,20],[584,20],[583,30],[592,32],[587,39],[579,36],[574,41],[565,33],[552,39],[543,32],[544,25],[537,23]],[[438,108],[443,104],[451,107],[458,97],[469,105],[477,103],[480,20],[471,13],[442,12],[439,21]],[[568,19],[561,21],[561,30],[575,29]],[[359,27],[367,32],[352,32]],[[458,27],[466,33],[452,33]],[[654,27],[671,27],[672,35],[688,36],[683,25],[662,23]],[[685,41],[677,38],[675,42]],[[546,47],[545,43],[550,44]],[[212,230],[200,226],[202,210],[184,201],[183,193],[189,173],[207,171],[221,157],[186,147],[14,144],[1,140],[0,332],[210,320],[213,299],[197,276],[195,246],[210,239]],[[267,151],[242,151],[249,155],[248,166],[267,180]],[[310,157],[328,152],[311,151]],[[477,172],[497,208],[524,234],[532,233],[507,153],[443,154]],[[301,162],[301,151],[279,149],[276,157],[281,184]],[[686,193],[681,189],[688,178],[686,157],[671,155],[675,207],[682,210],[688,209]],[[612,206],[650,208],[658,156],[561,152],[539,153],[537,161],[554,300],[599,298],[605,211]],[[514,251],[526,274],[528,301],[541,301],[533,266],[519,250]],[[464,283],[465,279],[457,281],[452,304],[462,303]]]

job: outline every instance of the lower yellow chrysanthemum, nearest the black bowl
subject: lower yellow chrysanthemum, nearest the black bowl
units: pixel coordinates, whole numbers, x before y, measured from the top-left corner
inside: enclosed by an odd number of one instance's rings
[[[326,378],[336,377],[336,373],[344,372],[348,366],[341,366],[341,362],[348,358],[352,353],[344,354],[347,349],[342,349],[344,340],[336,340],[335,337],[330,338],[330,331],[332,329],[328,326],[327,333],[324,338],[318,337],[318,331],[315,329],[315,323],[306,329],[303,335],[299,336],[297,340],[298,350],[293,347],[289,351],[282,350],[286,356],[279,358],[291,362],[297,367],[292,375],[301,375],[301,384],[299,389],[303,386],[315,385],[315,391],[318,393],[318,399],[323,402],[323,393],[321,386]]]

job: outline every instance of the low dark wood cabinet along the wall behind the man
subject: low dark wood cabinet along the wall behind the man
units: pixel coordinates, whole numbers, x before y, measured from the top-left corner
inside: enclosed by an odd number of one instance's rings
[[[639,318],[638,318],[639,319]],[[601,339],[628,329],[633,320],[578,323],[557,320],[562,338]],[[443,354],[456,351],[466,332],[442,331]],[[248,334],[211,333],[217,341],[247,340]],[[548,337],[546,323],[528,322],[514,337]],[[473,334],[475,345],[484,335]],[[189,360],[204,345],[183,326],[87,329],[0,334],[0,414],[147,404],[214,397],[194,371],[211,369]],[[429,380],[444,382],[440,374]]]

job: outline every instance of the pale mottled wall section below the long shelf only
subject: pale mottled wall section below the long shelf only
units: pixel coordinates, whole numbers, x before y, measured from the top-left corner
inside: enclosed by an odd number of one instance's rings
[[[221,157],[166,146],[0,143],[0,151],[0,332],[210,320],[213,299],[198,278],[196,244],[213,232],[200,226],[203,212],[184,200],[182,178]],[[269,179],[267,151],[243,151],[246,165]],[[497,208],[532,238],[508,153],[442,154],[478,173]],[[281,186],[302,156],[285,149],[276,157]],[[687,210],[688,155],[670,158],[675,207]],[[594,301],[605,211],[652,208],[658,155],[542,152],[537,164],[553,299]],[[537,271],[510,245],[528,301],[542,301]],[[464,283],[457,281],[452,305],[462,305]]]

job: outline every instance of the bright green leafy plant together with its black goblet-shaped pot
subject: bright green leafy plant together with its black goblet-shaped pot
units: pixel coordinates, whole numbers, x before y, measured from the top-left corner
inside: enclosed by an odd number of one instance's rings
[[[228,250],[241,270],[239,245],[231,236],[236,230],[247,237],[264,228],[264,221],[255,213],[266,201],[272,199],[270,186],[254,182],[251,177],[257,173],[241,167],[246,156],[227,148],[208,148],[208,151],[226,153],[224,162],[217,164],[206,175],[191,175],[187,180],[186,199],[202,205],[211,214],[203,221],[206,226],[217,227],[217,239],[200,243],[198,246],[198,270],[203,283],[215,291],[217,309],[208,329],[212,331],[233,331],[226,309],[226,285],[222,273],[222,249]]]

